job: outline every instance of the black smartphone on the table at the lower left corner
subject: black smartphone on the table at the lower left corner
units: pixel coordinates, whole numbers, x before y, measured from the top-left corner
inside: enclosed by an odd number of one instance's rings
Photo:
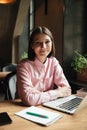
[[[8,115],[7,112],[1,112],[0,113],[0,125],[6,125],[6,124],[11,124],[12,119]]]

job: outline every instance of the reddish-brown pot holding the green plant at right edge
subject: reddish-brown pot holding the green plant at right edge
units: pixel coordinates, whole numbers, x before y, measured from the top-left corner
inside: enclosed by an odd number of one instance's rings
[[[82,73],[77,72],[77,80],[87,83],[87,69],[84,69]]]

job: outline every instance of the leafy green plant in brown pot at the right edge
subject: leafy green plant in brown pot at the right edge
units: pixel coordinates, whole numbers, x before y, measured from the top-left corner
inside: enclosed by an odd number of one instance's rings
[[[77,72],[77,80],[87,82],[87,54],[82,55],[78,51],[74,51],[71,66]]]

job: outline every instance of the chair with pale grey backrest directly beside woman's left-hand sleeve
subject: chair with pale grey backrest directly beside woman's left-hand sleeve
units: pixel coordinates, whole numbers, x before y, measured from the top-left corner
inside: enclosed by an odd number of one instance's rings
[[[15,99],[16,97],[16,71],[13,71],[5,78],[5,100]]]

